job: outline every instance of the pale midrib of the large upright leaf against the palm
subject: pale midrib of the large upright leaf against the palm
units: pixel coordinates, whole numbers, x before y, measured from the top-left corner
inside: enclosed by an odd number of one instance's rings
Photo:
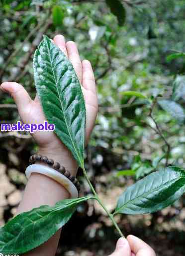
[[[51,64],[52,73],[53,73],[53,76],[54,76],[54,79],[55,79],[55,85],[56,85],[56,88],[57,88],[57,93],[58,93],[58,96],[59,96],[60,105],[61,105],[61,108],[62,108],[62,112],[63,112],[63,114],[64,114],[64,120],[65,120],[65,123],[66,123],[66,127],[67,127],[67,129],[68,129],[69,136],[70,136],[71,142],[72,142],[72,144],[73,144],[73,147],[74,147],[74,149],[75,149],[75,151],[76,151],[76,153],[77,153],[77,156],[78,156],[78,158],[79,158],[79,161],[80,161],[80,163],[81,163],[81,165],[82,165],[81,167],[83,167],[83,163],[82,163],[82,161],[81,161],[81,157],[80,157],[80,155],[79,155],[78,149],[76,148],[76,146],[75,146],[75,144],[74,144],[74,142],[73,142],[73,139],[72,139],[72,136],[71,136],[71,132],[70,132],[70,129],[69,129],[69,127],[68,127],[68,123],[67,123],[67,120],[66,120],[64,108],[63,108],[63,105],[62,105],[62,101],[61,101],[61,99],[60,99],[60,93],[59,93],[59,90],[58,90],[58,87],[57,87],[57,80],[56,80],[56,77],[55,77],[55,72],[54,72],[53,66],[52,66],[52,61],[51,61],[51,56],[50,56],[50,51],[49,51],[48,42],[47,42],[46,39],[45,39],[45,41],[46,41],[46,45],[47,45],[48,56],[49,56],[49,60],[50,60],[50,64]]]

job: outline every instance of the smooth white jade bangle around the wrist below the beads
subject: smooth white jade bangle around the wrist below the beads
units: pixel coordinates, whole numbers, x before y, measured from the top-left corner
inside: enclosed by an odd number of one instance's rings
[[[57,181],[58,183],[60,183],[70,193],[71,198],[79,197],[79,193],[75,185],[68,178],[66,178],[66,176],[59,173],[58,171],[55,171],[50,167],[39,165],[39,164],[33,164],[33,165],[29,165],[26,168],[25,173],[26,173],[27,179],[29,179],[32,173],[44,174],[52,178],[53,180]]]

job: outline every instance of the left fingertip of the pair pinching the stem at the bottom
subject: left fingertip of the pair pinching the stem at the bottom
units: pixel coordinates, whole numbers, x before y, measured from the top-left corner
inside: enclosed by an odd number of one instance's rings
[[[131,250],[128,241],[124,238],[120,238],[117,241],[115,251],[110,256],[131,256]]]

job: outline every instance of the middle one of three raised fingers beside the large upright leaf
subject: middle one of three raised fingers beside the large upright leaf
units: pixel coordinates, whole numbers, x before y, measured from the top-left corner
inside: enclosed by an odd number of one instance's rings
[[[77,73],[80,83],[82,83],[83,69],[82,69],[82,62],[79,56],[77,45],[73,41],[68,41],[66,43],[66,47],[67,47],[68,57],[71,63],[73,64],[73,67]]]

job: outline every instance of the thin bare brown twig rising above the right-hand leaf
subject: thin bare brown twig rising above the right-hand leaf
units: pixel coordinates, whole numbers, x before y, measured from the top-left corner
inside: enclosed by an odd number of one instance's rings
[[[169,156],[170,156],[170,151],[171,151],[171,146],[170,144],[168,143],[168,141],[166,140],[165,136],[163,135],[163,131],[162,129],[159,127],[159,124],[156,122],[155,118],[153,117],[152,115],[152,112],[153,112],[153,109],[156,105],[156,102],[157,102],[157,99],[154,100],[153,104],[152,104],[152,107],[150,109],[150,113],[149,113],[149,117],[153,120],[153,122],[155,123],[156,125],[156,129],[155,128],[151,128],[153,130],[155,130],[155,132],[161,137],[161,139],[165,142],[166,146],[167,146],[167,152],[166,152],[166,166],[168,166],[168,160],[169,160]]]

